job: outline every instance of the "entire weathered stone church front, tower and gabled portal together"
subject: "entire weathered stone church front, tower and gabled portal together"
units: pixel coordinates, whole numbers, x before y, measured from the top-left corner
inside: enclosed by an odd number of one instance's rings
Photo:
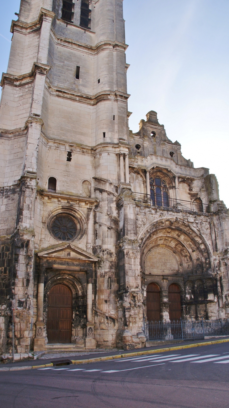
[[[229,212],[156,112],[128,128],[123,0],[21,0],[0,105],[0,353],[139,348],[229,317]],[[173,301],[175,299],[175,302]],[[57,347],[57,348],[58,348]]]

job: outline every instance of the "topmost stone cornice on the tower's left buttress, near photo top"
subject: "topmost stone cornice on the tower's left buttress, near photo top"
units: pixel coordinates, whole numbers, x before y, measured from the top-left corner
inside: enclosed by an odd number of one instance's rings
[[[33,31],[37,31],[40,29],[44,17],[48,17],[53,20],[53,18],[55,17],[55,13],[53,13],[53,11],[41,8],[37,20],[32,21],[31,23],[26,23],[20,20],[13,20],[11,23],[10,32],[14,33],[14,31],[18,31],[22,34],[29,34]]]

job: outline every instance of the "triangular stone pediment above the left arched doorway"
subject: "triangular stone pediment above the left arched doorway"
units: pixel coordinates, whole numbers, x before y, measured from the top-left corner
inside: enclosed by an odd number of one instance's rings
[[[97,262],[98,258],[92,254],[83,251],[81,248],[73,244],[61,245],[56,248],[48,249],[46,251],[38,252],[37,255],[40,258],[48,259],[67,259],[68,261],[89,261]]]

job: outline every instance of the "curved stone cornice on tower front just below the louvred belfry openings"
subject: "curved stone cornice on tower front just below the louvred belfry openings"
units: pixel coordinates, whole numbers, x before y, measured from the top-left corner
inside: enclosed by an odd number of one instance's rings
[[[101,51],[105,48],[112,48],[112,49],[123,49],[125,52],[126,49],[128,48],[127,44],[123,44],[121,42],[117,41],[100,41],[96,45],[89,45],[85,44],[83,42],[79,41],[74,41],[71,38],[64,38],[64,37],[59,37],[56,33],[53,27],[51,28],[51,38],[55,42],[56,45],[60,45],[63,47],[68,47],[70,49],[81,49],[82,51],[85,52],[85,50],[90,51],[90,53],[96,54],[98,51]],[[129,64],[126,64],[128,67],[130,66]]]

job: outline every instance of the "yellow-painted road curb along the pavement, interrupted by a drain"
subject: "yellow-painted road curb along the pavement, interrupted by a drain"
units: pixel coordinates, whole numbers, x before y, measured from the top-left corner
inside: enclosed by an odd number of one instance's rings
[[[175,346],[175,347],[157,348],[155,350],[135,351],[134,353],[116,354],[114,356],[107,356],[107,357],[95,357],[95,358],[90,358],[90,359],[85,359],[85,360],[71,360],[71,362],[72,364],[97,363],[98,361],[109,361],[109,360],[115,360],[115,359],[126,358],[126,357],[137,357],[137,356],[150,355],[150,354],[156,354],[156,353],[166,353],[166,351],[171,351],[171,350],[182,350],[185,348],[200,347],[200,346],[211,346],[212,344],[220,344],[220,343],[228,343],[228,342],[229,342],[229,339],[205,341],[202,343],[187,344],[187,346]],[[9,367],[9,368],[3,367],[3,368],[0,368],[0,372],[33,370],[37,368],[48,368],[48,367],[53,367],[53,363],[42,364],[41,366],[21,366],[21,367]]]

